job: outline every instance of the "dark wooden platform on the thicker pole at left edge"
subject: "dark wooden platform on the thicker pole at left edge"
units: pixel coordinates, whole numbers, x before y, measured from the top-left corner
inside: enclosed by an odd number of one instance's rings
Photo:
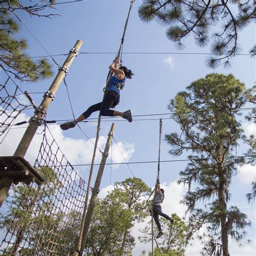
[[[0,157],[0,178],[13,178],[13,183],[23,182],[30,184],[32,182],[38,185],[44,182],[39,172],[23,157]]]

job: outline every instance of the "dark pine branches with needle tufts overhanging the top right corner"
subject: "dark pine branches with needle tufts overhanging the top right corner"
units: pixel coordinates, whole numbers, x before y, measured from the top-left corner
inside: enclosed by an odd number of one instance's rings
[[[198,46],[210,44],[213,55],[207,66],[217,68],[222,60],[225,67],[230,66],[230,59],[239,51],[238,34],[255,18],[255,11],[252,0],[143,0],[138,15],[143,22],[156,20],[167,26],[166,36],[179,50],[185,48],[182,41],[190,34]],[[254,50],[255,46],[252,55]]]

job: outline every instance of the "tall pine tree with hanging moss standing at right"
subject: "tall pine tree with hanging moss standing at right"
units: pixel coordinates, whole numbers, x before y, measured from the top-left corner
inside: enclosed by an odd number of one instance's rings
[[[227,207],[232,177],[238,164],[244,163],[232,154],[244,138],[236,119],[246,102],[244,87],[233,75],[213,73],[191,83],[169,105],[181,134],[166,134],[165,139],[173,156],[190,153],[179,183],[189,187],[183,203],[191,212],[194,231],[208,224],[208,234],[200,237],[205,255],[229,255],[228,236],[240,242],[246,234],[244,228],[250,225],[236,206]],[[204,208],[196,208],[199,201],[205,203]]]

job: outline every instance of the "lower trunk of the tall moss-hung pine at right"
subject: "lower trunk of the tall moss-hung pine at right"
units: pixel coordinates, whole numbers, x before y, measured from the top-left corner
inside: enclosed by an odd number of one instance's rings
[[[227,234],[227,205],[225,201],[225,177],[223,170],[220,169],[219,176],[219,207],[221,209],[220,224],[221,224],[221,242],[223,256],[229,256],[228,253],[228,234]]]

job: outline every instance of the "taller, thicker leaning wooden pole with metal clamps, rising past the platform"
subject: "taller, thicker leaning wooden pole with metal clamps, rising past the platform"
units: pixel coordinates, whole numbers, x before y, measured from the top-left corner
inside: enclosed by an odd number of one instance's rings
[[[35,135],[38,127],[42,124],[42,120],[46,114],[46,111],[48,110],[48,107],[52,100],[55,98],[60,83],[62,83],[62,80],[68,73],[69,67],[73,62],[73,59],[77,56],[82,44],[83,42],[81,40],[78,40],[75,46],[70,50],[69,56],[66,58],[63,65],[59,67],[59,72],[53,80],[49,90],[45,93],[44,99],[42,100],[39,107],[36,107],[35,115],[31,118],[29,126],[26,129],[21,139],[21,142],[19,142],[19,145],[14,153],[14,156],[24,158],[26,151],[28,150],[29,145],[33,139],[33,136]],[[6,172],[4,173],[4,175],[6,176],[1,177],[0,179],[0,207],[2,206],[5,197],[8,194],[12,182],[14,181],[14,177],[9,176],[9,173],[7,174]]]

